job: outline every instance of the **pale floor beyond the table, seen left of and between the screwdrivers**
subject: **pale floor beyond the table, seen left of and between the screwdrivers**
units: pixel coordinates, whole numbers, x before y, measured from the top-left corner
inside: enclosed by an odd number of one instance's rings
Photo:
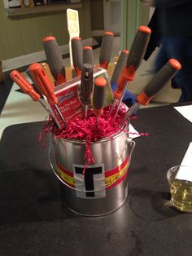
[[[94,50],[94,63],[98,63],[100,48]],[[114,40],[113,46],[113,54],[111,56],[111,61],[114,60],[114,57],[119,54],[120,51],[120,38],[116,37]],[[151,79],[153,69],[153,60],[155,55],[151,56],[151,60],[145,62],[143,61],[141,68],[138,69],[137,78],[134,82],[132,82],[129,86],[129,90],[133,93],[137,94],[141,92],[142,87],[146,85]],[[69,59],[64,60],[65,66],[69,66]],[[25,77],[26,73],[23,73]],[[2,86],[2,85],[1,85]],[[11,126],[14,124],[24,123],[24,122],[33,122],[33,121],[43,121],[46,116],[46,110],[41,107],[41,104],[38,102],[33,102],[28,95],[24,95],[20,93],[18,90],[18,86],[13,84],[11,88],[11,92],[7,98],[7,102],[2,109],[2,113],[0,115],[0,137],[2,135],[3,130],[7,126]],[[161,94],[155,98],[152,104],[149,104],[147,107],[155,107],[159,106],[159,104],[169,104],[172,102],[177,102],[179,98],[180,91],[172,90],[171,86],[167,86]],[[1,97],[1,95],[0,95]]]

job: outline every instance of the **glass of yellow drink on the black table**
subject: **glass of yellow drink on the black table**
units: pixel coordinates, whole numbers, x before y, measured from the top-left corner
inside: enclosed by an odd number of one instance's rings
[[[192,212],[192,166],[173,166],[167,178],[172,205],[183,212]]]

